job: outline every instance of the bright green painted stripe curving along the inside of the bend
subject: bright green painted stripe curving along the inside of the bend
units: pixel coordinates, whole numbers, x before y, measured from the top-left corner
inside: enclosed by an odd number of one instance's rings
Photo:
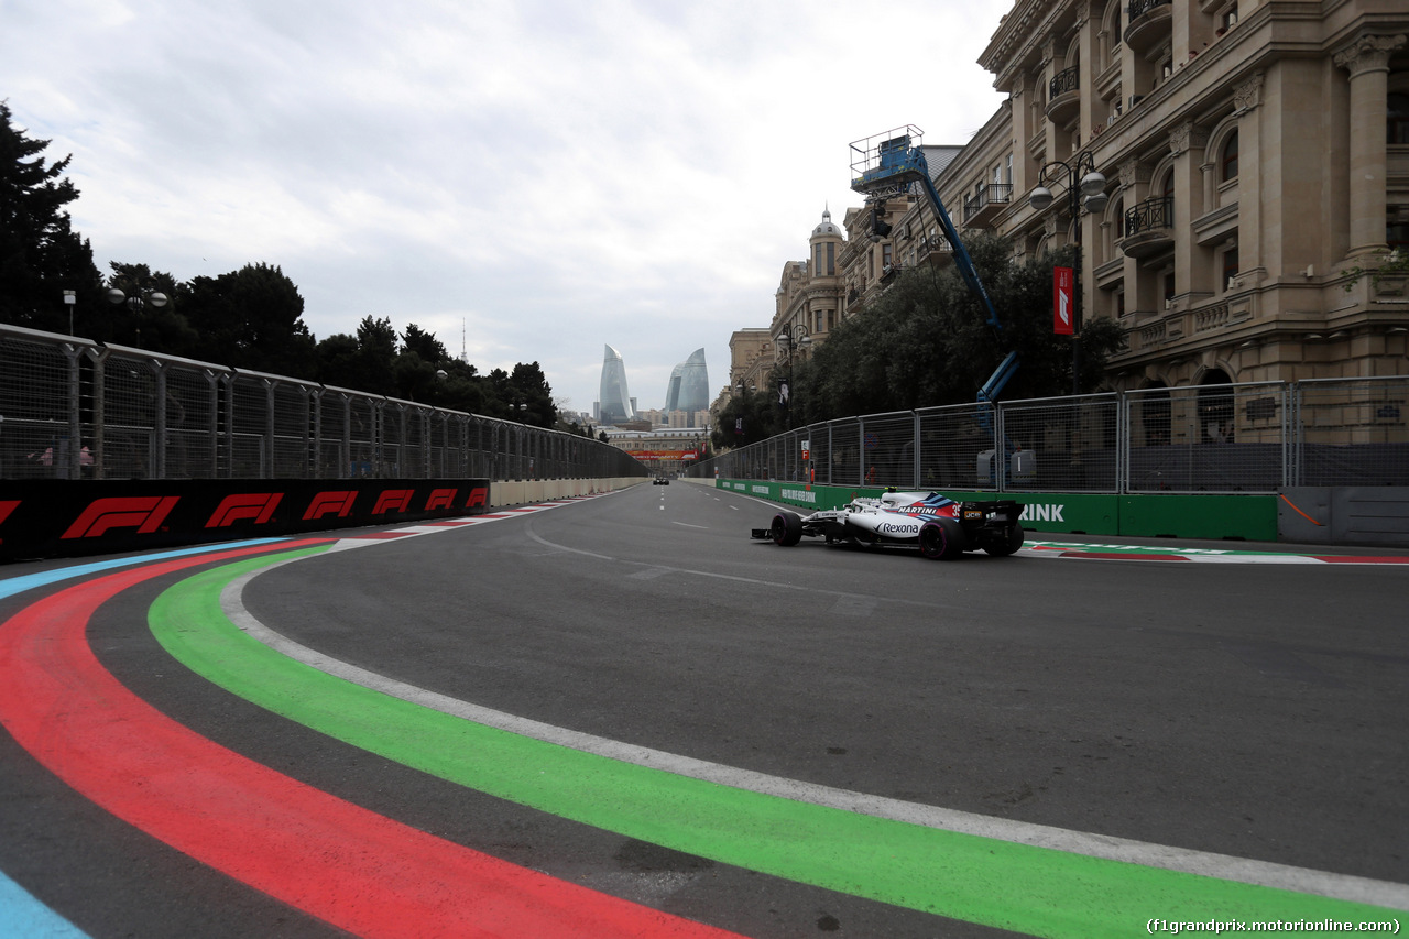
[[[945,832],[734,790],[533,740],[317,671],[247,636],[221,589],[265,556],[187,578],[152,605],[161,644],[262,708],[451,782],[674,850],[1038,936],[1130,936],[1151,916],[1382,919],[1375,907]]]

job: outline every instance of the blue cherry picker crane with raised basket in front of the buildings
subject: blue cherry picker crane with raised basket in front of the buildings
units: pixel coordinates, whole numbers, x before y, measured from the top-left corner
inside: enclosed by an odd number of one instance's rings
[[[944,230],[944,237],[948,238],[950,247],[954,250],[954,264],[958,265],[960,275],[969,290],[983,305],[988,326],[998,337],[999,345],[1003,345],[1003,321],[998,317],[998,310],[993,309],[993,302],[988,297],[988,290],[983,289],[983,282],[979,279],[978,271],[974,269],[974,261],[964,248],[960,233],[954,228],[954,223],[950,220],[950,213],[944,209],[940,193],[934,189],[934,180],[930,179],[929,162],[924,158],[924,149],[920,147],[924,131],[919,127],[907,124],[852,142],[851,189],[865,195],[867,204],[872,207],[872,231],[882,237],[890,231],[890,226],[881,217],[885,200],[909,195],[916,183],[924,189],[924,193],[930,197],[930,204],[934,207],[934,216],[940,220],[940,227]],[[979,388],[978,400],[981,403],[996,402],[1003,386],[1017,372],[1019,364],[1017,352],[1009,352],[998,369],[983,382],[983,386]],[[986,420],[983,423],[986,424]]]

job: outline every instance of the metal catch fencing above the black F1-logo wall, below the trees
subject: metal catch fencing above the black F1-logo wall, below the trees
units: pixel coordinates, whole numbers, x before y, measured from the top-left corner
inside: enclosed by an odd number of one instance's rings
[[[0,478],[645,475],[576,434],[0,324]]]

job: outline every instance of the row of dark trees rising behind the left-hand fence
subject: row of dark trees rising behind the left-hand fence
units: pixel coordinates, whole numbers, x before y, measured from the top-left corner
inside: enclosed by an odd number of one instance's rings
[[[0,100],[0,321],[134,345],[238,369],[287,375],[468,413],[552,427],[558,407],[538,362],[480,375],[451,358],[434,333],[366,316],[355,334],[316,343],[303,296],[278,265],[247,264],[180,282],[145,264],[113,262],[104,282],[65,207],[79,196],[63,173],[70,156],[45,162],[49,141],[31,140]],[[124,302],[108,302],[108,290]],[[77,303],[63,302],[76,290]],[[168,303],[149,302],[154,292]],[[142,302],[128,303],[128,297]]]

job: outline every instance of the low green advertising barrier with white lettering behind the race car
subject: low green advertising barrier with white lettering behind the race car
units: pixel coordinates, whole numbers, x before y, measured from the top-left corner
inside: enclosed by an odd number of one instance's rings
[[[821,486],[761,479],[716,479],[730,492],[816,512],[857,496],[875,498],[876,486]],[[1275,495],[1107,495],[1088,492],[964,492],[940,489],[960,502],[1012,499],[1023,506],[1029,532],[1129,534],[1169,539],[1277,540]]]

